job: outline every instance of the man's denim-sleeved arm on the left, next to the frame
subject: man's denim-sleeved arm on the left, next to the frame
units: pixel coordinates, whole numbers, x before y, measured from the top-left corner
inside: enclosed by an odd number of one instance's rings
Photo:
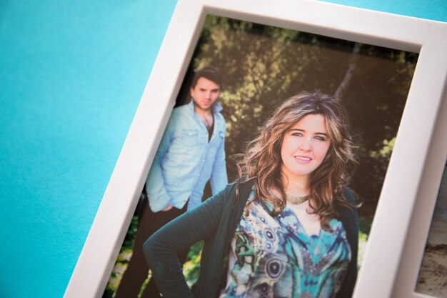
[[[174,134],[172,125],[171,121],[169,121],[146,179],[146,192],[152,212],[159,212],[171,204],[171,197],[166,192],[166,187],[164,187],[164,179],[161,174],[161,161],[164,159],[171,144],[171,139]]]

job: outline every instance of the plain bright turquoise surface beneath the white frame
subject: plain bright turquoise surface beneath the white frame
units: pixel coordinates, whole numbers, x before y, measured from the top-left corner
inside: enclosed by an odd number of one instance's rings
[[[330,2],[447,22],[447,0]],[[175,4],[0,0],[0,298],[63,296]]]

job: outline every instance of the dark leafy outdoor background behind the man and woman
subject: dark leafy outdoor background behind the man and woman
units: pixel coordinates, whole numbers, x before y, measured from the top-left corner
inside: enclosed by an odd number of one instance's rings
[[[391,157],[418,54],[326,36],[208,16],[176,105],[189,102],[194,70],[217,66],[224,73],[219,102],[226,119],[228,180],[237,178],[235,154],[274,109],[300,91],[335,94],[348,111],[359,166],[349,186],[361,201],[359,265]],[[209,189],[204,198],[211,196]],[[138,233],[134,217],[104,297],[113,297]],[[201,244],[184,266],[193,284]],[[144,259],[141,262],[145,262]]]

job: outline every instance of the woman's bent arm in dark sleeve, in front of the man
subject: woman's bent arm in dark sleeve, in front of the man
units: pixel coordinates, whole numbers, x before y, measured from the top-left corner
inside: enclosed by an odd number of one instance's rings
[[[194,297],[186,284],[177,253],[214,234],[233,184],[159,229],[143,245],[159,292],[166,298]]]

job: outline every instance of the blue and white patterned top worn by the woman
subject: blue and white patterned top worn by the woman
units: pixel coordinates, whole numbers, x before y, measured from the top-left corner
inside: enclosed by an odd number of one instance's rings
[[[309,237],[288,207],[271,217],[268,207],[253,202],[236,228],[220,297],[335,297],[351,247],[340,221],[329,226]]]

